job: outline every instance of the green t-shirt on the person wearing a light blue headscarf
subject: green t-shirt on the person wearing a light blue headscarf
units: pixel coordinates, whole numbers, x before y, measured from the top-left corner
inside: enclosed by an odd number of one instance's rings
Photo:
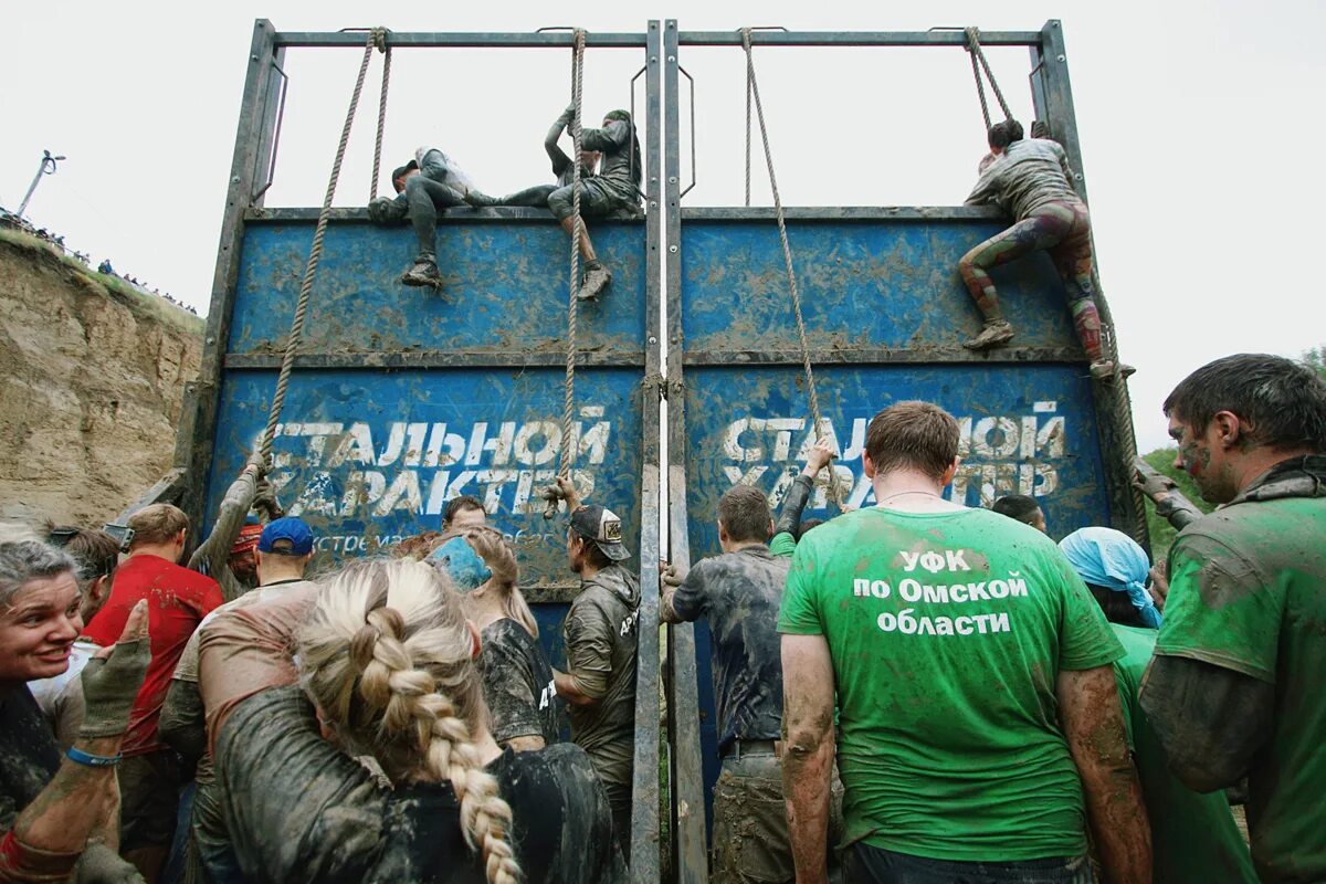
[[[1156,631],[1110,626],[1127,652],[1114,664],[1114,679],[1151,820],[1154,879],[1164,884],[1257,884],[1252,855],[1224,791],[1195,793],[1170,773],[1164,749],[1138,704]]]

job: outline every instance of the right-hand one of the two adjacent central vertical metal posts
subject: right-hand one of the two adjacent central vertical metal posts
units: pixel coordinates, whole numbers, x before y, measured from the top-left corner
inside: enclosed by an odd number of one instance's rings
[[[762,32],[761,32],[762,33]],[[667,20],[663,34],[667,106],[667,386],[668,395],[668,543],[670,562],[690,565],[686,512],[686,396],[682,347],[682,151],[678,127],[678,30]],[[668,627],[668,732],[672,746],[674,868],[678,884],[707,884],[708,836],[704,822],[704,767],[700,757],[700,697],[696,684],[695,627]]]

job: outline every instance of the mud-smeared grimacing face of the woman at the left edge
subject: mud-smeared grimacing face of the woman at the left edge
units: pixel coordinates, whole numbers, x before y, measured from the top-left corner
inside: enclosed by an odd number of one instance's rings
[[[78,583],[70,571],[29,580],[0,607],[0,683],[50,679],[69,668],[82,631]]]

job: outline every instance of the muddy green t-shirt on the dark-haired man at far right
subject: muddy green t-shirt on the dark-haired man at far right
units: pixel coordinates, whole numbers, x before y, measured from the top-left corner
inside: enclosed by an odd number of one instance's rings
[[[1326,880],[1326,497],[1248,501],[1189,525],[1170,551],[1156,653],[1276,687],[1248,770],[1248,828],[1264,881]]]

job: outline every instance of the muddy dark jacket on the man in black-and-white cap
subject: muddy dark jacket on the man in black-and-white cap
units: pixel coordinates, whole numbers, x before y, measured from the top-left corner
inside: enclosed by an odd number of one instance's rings
[[[570,708],[572,740],[607,783],[630,785],[635,758],[635,647],[640,584],[621,565],[585,580],[562,624],[566,669],[598,700]]]

